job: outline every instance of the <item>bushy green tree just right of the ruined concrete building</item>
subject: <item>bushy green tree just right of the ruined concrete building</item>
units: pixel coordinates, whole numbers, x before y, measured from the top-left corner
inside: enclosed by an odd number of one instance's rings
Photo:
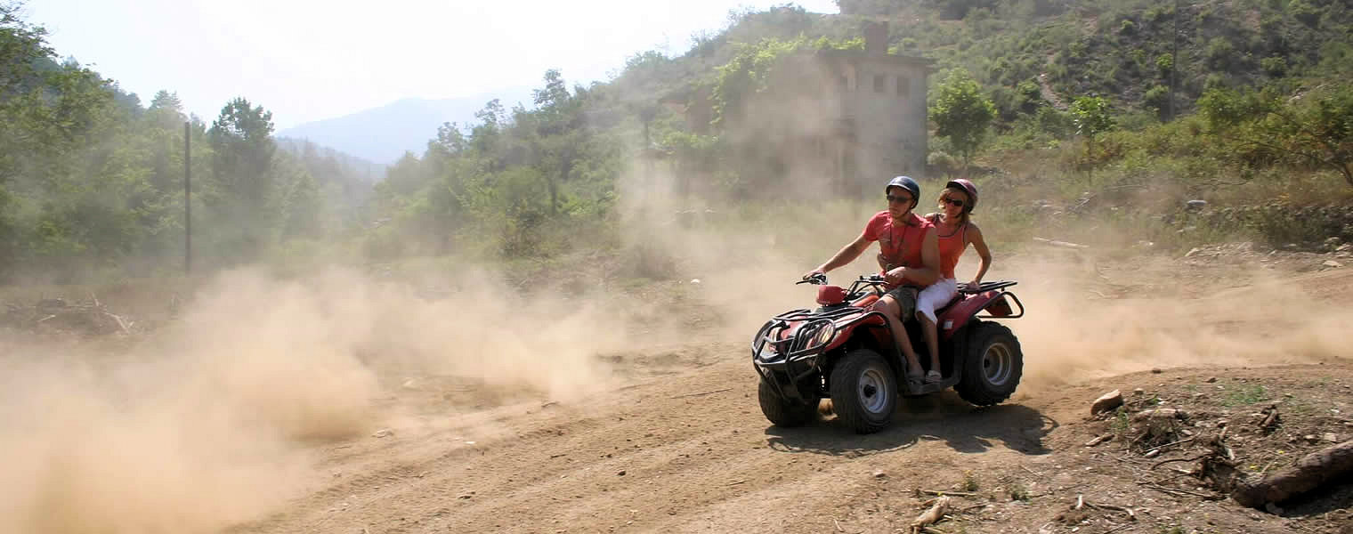
[[[954,150],[963,157],[966,168],[986,139],[988,127],[996,119],[996,105],[982,95],[981,85],[971,74],[951,70],[936,88],[930,119],[935,122],[935,135],[948,138]]]

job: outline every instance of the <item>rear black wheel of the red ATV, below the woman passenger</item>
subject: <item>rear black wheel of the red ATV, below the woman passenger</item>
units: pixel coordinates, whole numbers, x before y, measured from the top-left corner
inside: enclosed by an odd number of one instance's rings
[[[963,379],[954,389],[963,400],[992,406],[1009,399],[1024,373],[1024,353],[1005,324],[973,324],[963,356]]]

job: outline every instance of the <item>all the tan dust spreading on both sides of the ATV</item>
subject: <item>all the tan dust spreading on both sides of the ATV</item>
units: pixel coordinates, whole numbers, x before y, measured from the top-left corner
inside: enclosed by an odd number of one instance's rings
[[[746,342],[766,318],[812,306],[812,288],[794,281],[882,210],[647,191],[621,212],[622,256],[648,258],[630,273],[651,278],[640,295],[614,280],[524,291],[491,265],[413,277],[333,268],[303,280],[244,269],[199,288],[176,320],[130,350],[0,335],[0,531],[216,531],[306,492],[314,445],[398,416],[380,400],[406,377],[571,400],[624,380],[598,356]],[[1084,262],[990,245],[988,280],[1020,280],[1028,308],[1009,322],[1026,354],[1026,393],[1154,366],[1344,357],[1353,341],[1339,329],[1348,311],[1289,281],[1193,300],[1095,299]],[[874,272],[873,254],[832,280]],[[959,274],[973,269],[969,253]],[[672,284],[685,300],[663,295]],[[681,314],[709,320],[691,327]]]

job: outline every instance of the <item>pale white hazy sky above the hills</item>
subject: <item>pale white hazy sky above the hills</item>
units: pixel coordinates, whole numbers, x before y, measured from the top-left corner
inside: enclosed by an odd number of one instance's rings
[[[643,50],[681,54],[729,9],[766,0],[27,0],[61,57],[93,65],[149,104],[179,93],[214,119],[244,96],[277,128],[403,97],[445,99],[606,80]],[[838,12],[833,0],[797,1]]]

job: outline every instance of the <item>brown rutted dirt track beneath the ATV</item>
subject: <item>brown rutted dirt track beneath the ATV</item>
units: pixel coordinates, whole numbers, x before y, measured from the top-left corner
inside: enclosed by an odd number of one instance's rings
[[[1348,269],[1285,280],[1312,303],[1353,297]],[[1222,293],[1245,301],[1245,292]],[[1207,324],[1245,343],[1288,323],[1266,322],[1262,310],[1227,310]],[[1023,326],[1013,323],[1022,337]],[[230,531],[894,533],[924,510],[930,495],[919,489],[974,493],[936,526],[943,533],[1346,531],[1346,485],[1307,508],[1266,514],[1187,485],[1154,491],[1143,485],[1143,475],[1154,475],[1150,462],[1120,446],[1084,446],[1108,424],[1088,418],[1089,402],[1107,389],[1143,388],[1181,404],[1211,395],[1218,416],[1241,419],[1257,408],[1223,393],[1254,384],[1261,395],[1308,403],[1308,414],[1323,418],[1311,420],[1346,439],[1353,353],[1325,346],[1302,354],[1293,346],[1291,357],[1272,361],[1262,360],[1269,353],[1242,353],[1238,362],[1193,358],[1158,372],[1147,362],[1123,374],[1034,373],[1011,402],[984,410],[953,393],[911,399],[889,430],[865,437],[829,416],[804,429],[770,426],[756,406],[747,347],[732,341],[613,354],[626,385],[564,402],[448,376],[390,377],[377,406],[383,426],[314,445],[317,468],[302,496]],[[1043,357],[1036,350],[1026,343],[1031,361]],[[1273,439],[1275,450],[1295,442],[1287,434]],[[1068,518],[1077,495],[1132,507],[1135,520],[1103,508]]]

